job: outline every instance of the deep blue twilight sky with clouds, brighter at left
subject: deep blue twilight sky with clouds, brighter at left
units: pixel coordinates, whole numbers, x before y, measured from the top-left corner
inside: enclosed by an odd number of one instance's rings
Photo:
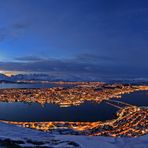
[[[148,74],[147,0],[0,0],[0,72]]]

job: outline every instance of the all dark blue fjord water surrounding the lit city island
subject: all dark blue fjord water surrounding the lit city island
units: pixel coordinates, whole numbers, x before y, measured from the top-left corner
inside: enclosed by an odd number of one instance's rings
[[[8,87],[9,86],[9,87]],[[54,87],[49,85],[48,87]],[[3,88],[12,88],[14,84],[7,84]],[[47,85],[27,84],[27,88],[47,88]],[[15,88],[26,88],[17,84]],[[115,100],[115,98],[113,98]],[[119,101],[137,106],[148,106],[148,91],[125,94]],[[116,117],[117,108],[102,102],[84,102],[79,106],[62,108],[56,104],[14,102],[0,103],[0,120],[11,121],[106,121]]]

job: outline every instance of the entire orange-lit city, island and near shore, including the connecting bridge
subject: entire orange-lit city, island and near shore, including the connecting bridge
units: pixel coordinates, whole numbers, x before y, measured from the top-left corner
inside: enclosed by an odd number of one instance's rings
[[[56,82],[58,83],[58,82]],[[66,84],[59,82],[58,84]],[[147,91],[148,86],[106,84],[102,82],[67,82],[70,88],[53,87],[48,89],[1,89],[0,101],[37,102],[58,104],[60,107],[78,106],[85,101],[105,102],[118,108],[116,119],[105,122],[1,122],[48,131],[51,133],[90,136],[137,137],[148,133],[148,110],[120,101],[123,94],[134,91]],[[110,100],[116,98],[116,100]]]

